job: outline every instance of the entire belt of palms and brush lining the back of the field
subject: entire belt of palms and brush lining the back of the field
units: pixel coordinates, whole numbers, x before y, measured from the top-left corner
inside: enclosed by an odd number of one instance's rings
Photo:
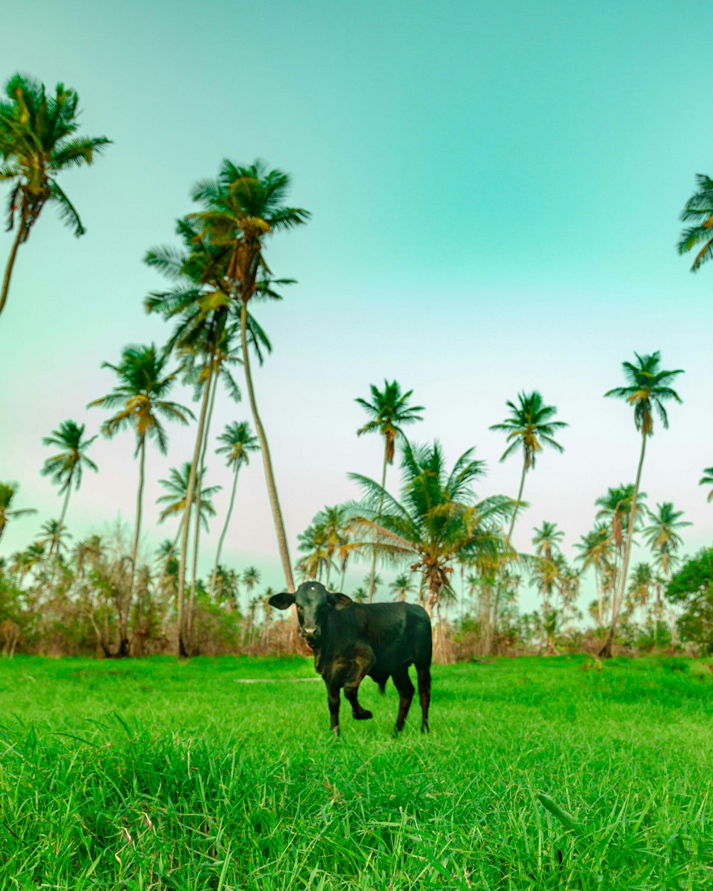
[[[110,143],[103,136],[76,135],[78,97],[61,85],[49,96],[45,86],[16,75],[6,94],[0,102],[0,180],[10,186],[8,228],[15,235],[0,312],[18,248],[28,240],[45,203],[54,202],[73,231],[84,232],[57,177],[71,165],[91,163]],[[709,191],[708,181],[701,181],[701,194],[686,214],[704,213]],[[259,160],[243,165],[225,159],[215,179],[194,186],[193,209],[176,221],[176,240],[146,253],[146,263],[166,283],[144,296],[143,304],[166,320],[166,343],[118,347],[119,358],[102,363],[112,372],[113,385],[87,406],[106,413],[100,427],[104,437],[133,434],[133,529],[130,535],[119,527],[111,534],[72,538],[72,494],[82,485],[84,470],[101,469],[89,454],[96,436],[86,435],[86,421],[61,421],[45,437],[52,454],[41,469],[58,486],[59,518],[47,519],[41,535],[24,550],[0,558],[4,655],[95,651],[114,657],[175,651],[185,656],[283,651],[298,645],[294,619],[285,624],[266,607],[272,592],[259,589],[258,568],[238,572],[221,562],[240,498],[240,471],[259,451],[285,585],[294,590],[288,534],[252,376],[253,364],[261,364],[272,350],[256,317],[259,304],[282,299],[283,290],[294,284],[269,266],[269,242],[309,218],[306,209],[292,206],[289,199],[290,178],[282,171]],[[713,217],[694,219],[697,228],[686,234],[682,250],[710,231]],[[708,244],[697,264],[709,249]],[[668,427],[667,405],[681,401],[672,385],[682,370],[668,371],[661,361],[657,351],[635,354],[634,361],[623,363],[623,386],[605,394],[633,410],[641,435],[635,481],[612,486],[597,500],[594,527],[576,544],[578,556],[572,563],[561,552],[564,532],[553,521],[534,530],[531,552],[518,552],[512,545],[520,511],[527,507],[527,478],[539,454],[546,448],[563,451],[558,437],[567,423],[557,418],[554,405],[537,391],[507,402],[507,416],[492,429],[505,437],[502,460],[520,456],[518,494],[479,495],[473,486],[481,486],[485,464],[474,450],[449,465],[438,442],[417,445],[410,430],[425,409],[412,405],[413,391],[396,380],[384,380],[382,389],[372,384],[370,396],[356,400],[366,413],[356,434],[383,437],[381,481],[352,473],[362,497],[316,513],[298,536],[298,580],[316,578],[332,588],[343,587],[351,561],[365,560],[369,571],[364,584],[347,593],[357,601],[372,601],[380,585],[377,567],[395,570],[389,596],[418,601],[429,611],[442,659],[581,647],[610,657],[617,643],[651,649],[690,642],[709,648],[701,623],[685,618],[685,610],[695,608],[680,589],[683,583],[672,587],[681,560],[680,530],[690,524],[671,502],[648,506],[641,491],[654,417]],[[171,398],[177,383],[193,388],[195,412]],[[221,534],[210,555],[212,568],[201,578],[201,529],[215,519],[211,498],[221,487],[208,484],[217,463],[211,451],[214,407],[218,398],[240,403],[242,387],[250,420],[236,418],[217,437],[216,454],[230,472],[231,498],[225,517],[217,518]],[[166,494],[159,499],[158,521],[171,521],[174,528],[159,551],[148,554],[143,546],[144,485],[152,474],[152,448],[168,454],[172,424],[194,425],[193,453],[178,456],[169,478],[160,481]],[[127,437],[120,442],[127,447]],[[387,480],[397,455],[400,486]],[[633,470],[633,456],[631,462]],[[712,481],[708,468],[701,485]],[[513,492],[516,486],[513,479]],[[18,484],[4,478],[0,540],[8,523],[31,510],[21,503]],[[637,536],[643,536],[650,557],[630,569]],[[582,574],[590,569],[596,598],[587,608],[591,627],[585,632],[578,595]],[[519,607],[520,587],[527,583],[540,596],[540,608],[531,614]]]

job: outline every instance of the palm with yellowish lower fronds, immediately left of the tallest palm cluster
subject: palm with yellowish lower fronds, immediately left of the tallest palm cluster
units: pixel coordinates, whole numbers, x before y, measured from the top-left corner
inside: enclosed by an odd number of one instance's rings
[[[122,617],[119,627],[119,656],[128,654],[128,614],[134,596],[136,573],[136,555],[139,548],[141,519],[143,511],[143,480],[145,476],[146,442],[154,439],[161,454],[168,452],[168,437],[161,420],[178,421],[187,424],[193,413],[184,405],[169,402],[168,392],[176,382],[176,372],[167,373],[168,356],[161,354],[152,344],[146,346],[126,347],[118,365],[102,363],[102,368],[111,368],[116,372],[119,383],[107,396],[94,399],[88,407],[94,405],[102,408],[119,409],[108,421],[102,424],[102,433],[111,438],[123,429],[134,429],[136,449],[134,456],[139,458],[139,486],[136,496],[136,522],[134,547],[131,556],[131,573],[129,576],[128,604],[129,609]],[[179,603],[179,609],[182,604]],[[179,618],[182,616],[179,616]],[[180,627],[180,624],[179,624]]]

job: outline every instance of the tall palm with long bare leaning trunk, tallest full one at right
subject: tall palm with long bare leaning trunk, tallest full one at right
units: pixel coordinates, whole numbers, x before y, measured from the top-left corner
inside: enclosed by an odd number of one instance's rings
[[[682,400],[671,388],[671,384],[676,380],[679,374],[683,374],[682,369],[668,372],[661,368],[661,354],[659,350],[649,355],[636,357],[635,363],[624,362],[622,369],[624,377],[627,381],[624,387],[615,387],[608,390],[604,396],[613,396],[617,399],[624,399],[629,405],[634,407],[634,424],[635,428],[641,433],[641,454],[639,455],[639,465],[636,470],[636,480],[634,484],[634,495],[632,497],[631,510],[628,516],[627,539],[624,545],[624,556],[622,560],[621,573],[619,577],[619,592],[614,598],[613,608],[611,610],[611,626],[606,642],[602,648],[600,656],[610,658],[612,655],[612,646],[614,642],[614,633],[617,627],[617,619],[619,618],[619,609],[624,601],[624,593],[627,590],[627,570],[629,566],[629,555],[631,554],[632,533],[634,530],[634,518],[636,513],[636,500],[641,484],[641,473],[643,468],[643,457],[646,453],[647,437],[653,435],[653,411],[659,414],[661,423],[664,428],[668,428],[668,414],[664,403],[674,400],[680,403]]]

